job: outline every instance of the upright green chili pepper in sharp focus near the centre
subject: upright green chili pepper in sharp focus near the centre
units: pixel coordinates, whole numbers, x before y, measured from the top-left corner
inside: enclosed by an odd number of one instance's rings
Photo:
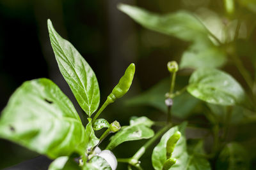
[[[111,102],[114,102],[116,99],[124,96],[124,94],[130,89],[133,76],[135,73],[134,63],[130,64],[125,70],[124,76],[120,78],[118,84],[114,87],[111,94],[109,94],[108,99]]]

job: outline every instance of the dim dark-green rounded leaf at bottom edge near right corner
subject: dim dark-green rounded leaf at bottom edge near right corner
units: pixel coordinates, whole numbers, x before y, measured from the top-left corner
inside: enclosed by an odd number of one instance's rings
[[[248,153],[239,143],[228,143],[220,153],[216,163],[216,169],[249,169],[250,159]]]

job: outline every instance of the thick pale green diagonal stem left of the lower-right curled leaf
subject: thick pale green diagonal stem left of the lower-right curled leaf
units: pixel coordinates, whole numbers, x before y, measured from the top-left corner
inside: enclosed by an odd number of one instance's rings
[[[170,127],[172,127],[172,124],[168,124],[158,131],[153,138],[149,139],[145,145],[141,146],[141,148],[133,155],[132,159],[139,160],[147,150],[148,146],[152,145],[152,143],[154,143],[154,141],[156,141],[156,139],[158,139],[164,132],[170,129]]]

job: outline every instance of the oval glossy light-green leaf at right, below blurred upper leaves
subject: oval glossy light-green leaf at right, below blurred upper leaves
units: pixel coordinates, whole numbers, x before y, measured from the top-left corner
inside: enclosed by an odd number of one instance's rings
[[[229,74],[218,69],[198,69],[189,79],[188,92],[207,103],[224,106],[245,104],[246,94]]]

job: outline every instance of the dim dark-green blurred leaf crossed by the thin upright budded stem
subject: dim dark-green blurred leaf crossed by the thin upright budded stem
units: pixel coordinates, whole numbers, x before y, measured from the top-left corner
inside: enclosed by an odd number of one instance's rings
[[[162,80],[146,92],[128,99],[126,104],[132,106],[152,106],[166,113],[167,107],[164,104],[164,95],[169,89],[170,80]],[[198,103],[200,103],[200,100],[191,96],[189,93],[184,92],[183,94],[180,94],[180,96],[173,98],[172,115],[178,118],[186,118]]]

